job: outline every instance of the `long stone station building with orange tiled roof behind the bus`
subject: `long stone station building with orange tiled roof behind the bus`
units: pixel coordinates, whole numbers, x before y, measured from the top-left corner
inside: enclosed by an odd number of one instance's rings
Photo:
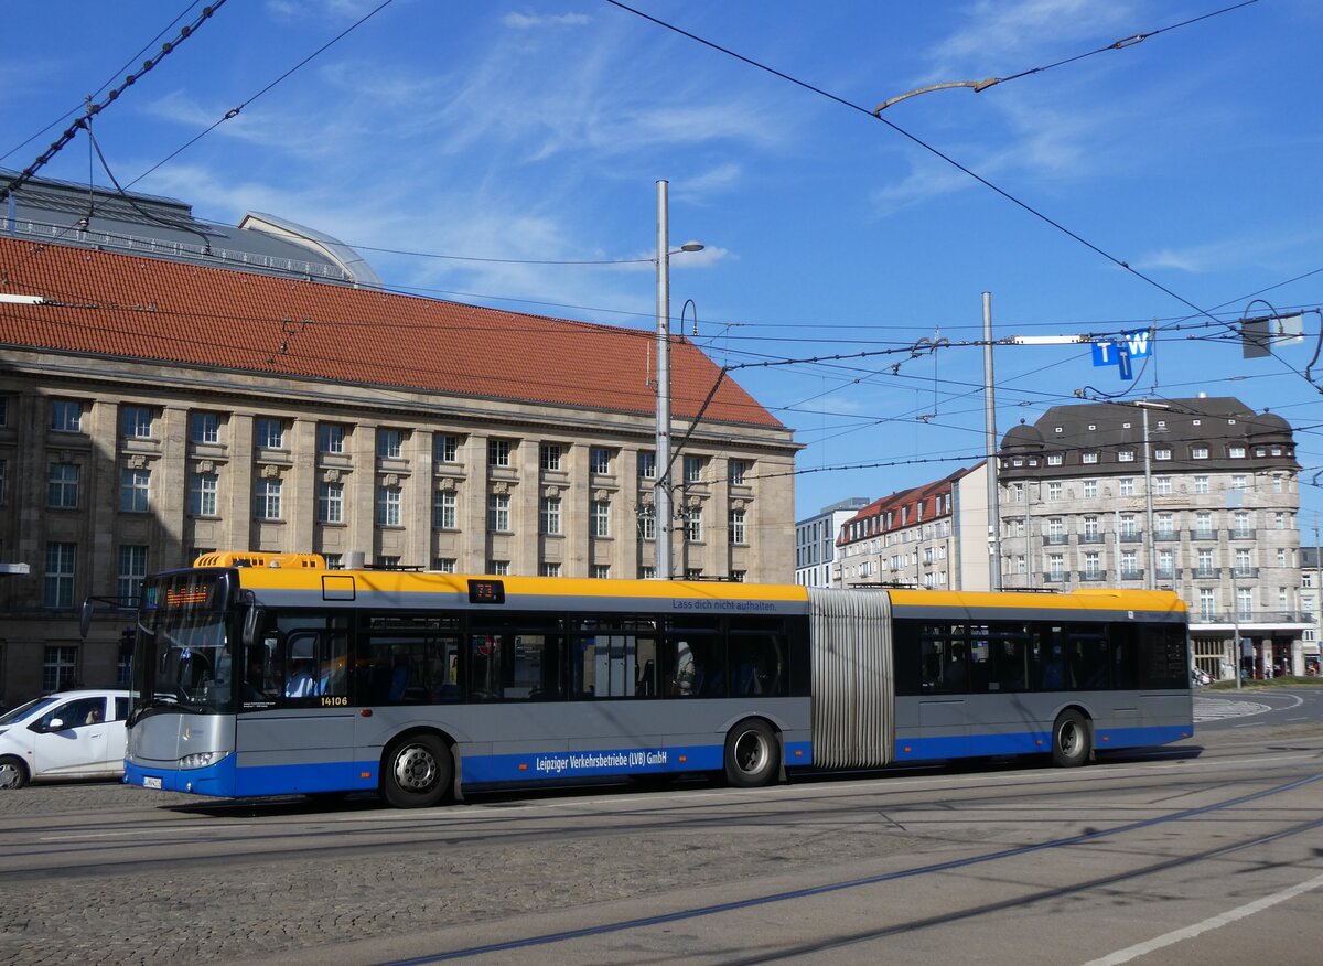
[[[151,572],[217,549],[654,576],[655,333],[385,291],[270,216],[29,183],[0,232],[0,704],[122,679]],[[790,582],[791,433],[671,345],[676,576]],[[700,408],[718,384],[706,409]],[[105,615],[86,640],[85,598]]]

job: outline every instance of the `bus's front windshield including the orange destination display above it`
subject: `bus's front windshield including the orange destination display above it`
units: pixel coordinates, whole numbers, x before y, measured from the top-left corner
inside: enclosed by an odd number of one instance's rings
[[[135,716],[152,707],[220,713],[234,711],[235,640],[218,585],[153,586],[144,594],[134,643]],[[159,592],[159,593],[156,593]],[[209,592],[209,593],[206,593]]]

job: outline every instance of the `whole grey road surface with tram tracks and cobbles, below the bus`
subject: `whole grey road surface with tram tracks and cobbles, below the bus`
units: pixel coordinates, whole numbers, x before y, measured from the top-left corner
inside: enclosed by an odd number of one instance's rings
[[[0,795],[0,962],[1316,963],[1323,695],[1037,762],[396,811]]]

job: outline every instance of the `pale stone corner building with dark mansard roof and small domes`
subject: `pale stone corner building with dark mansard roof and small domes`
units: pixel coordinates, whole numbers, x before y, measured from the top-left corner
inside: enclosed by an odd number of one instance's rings
[[[1054,406],[998,458],[1005,589],[1172,589],[1208,674],[1303,672],[1286,419],[1229,397]]]

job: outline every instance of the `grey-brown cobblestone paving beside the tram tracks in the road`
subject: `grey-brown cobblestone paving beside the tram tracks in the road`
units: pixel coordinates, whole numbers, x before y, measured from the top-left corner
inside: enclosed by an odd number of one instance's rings
[[[131,818],[161,806],[160,795],[115,785],[46,786],[0,795],[0,818],[57,815],[73,824],[90,812],[124,810]],[[389,820],[400,812],[373,814]],[[447,810],[433,814],[446,822]],[[314,811],[308,820],[328,815],[335,812]],[[245,852],[224,861],[180,860],[164,873],[153,863],[143,872],[130,864],[30,881],[28,875],[17,883],[0,877],[0,963],[269,962],[352,940],[822,868],[857,859],[861,850],[882,855],[918,842],[884,818],[861,827],[860,836],[840,831],[787,842],[746,824],[689,827],[683,836],[581,828],[508,842],[433,838],[377,854]],[[151,835],[144,822],[140,836]]]

